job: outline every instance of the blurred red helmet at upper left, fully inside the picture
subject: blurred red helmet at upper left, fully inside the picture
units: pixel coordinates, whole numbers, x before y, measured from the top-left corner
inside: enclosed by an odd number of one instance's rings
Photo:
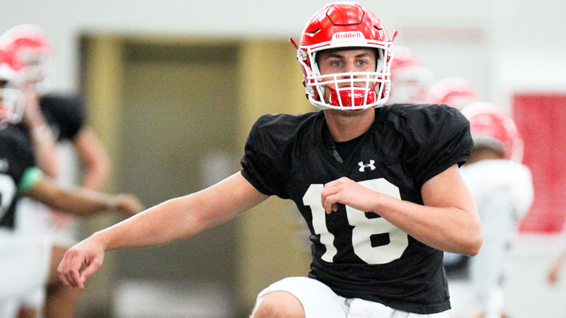
[[[8,51],[15,57],[18,82],[37,85],[45,91],[54,77],[52,45],[43,30],[35,25],[17,25],[4,33],[12,39]]]

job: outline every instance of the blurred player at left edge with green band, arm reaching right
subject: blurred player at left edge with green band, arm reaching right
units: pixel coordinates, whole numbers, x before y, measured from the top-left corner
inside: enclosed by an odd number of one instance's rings
[[[15,126],[25,116],[25,95],[14,85],[13,64],[0,46],[0,317],[6,318],[16,317],[21,298],[41,298],[47,282],[57,281],[51,269],[60,259],[49,235],[15,230],[16,202],[21,197],[81,215],[116,210],[131,216],[144,208],[131,195],[63,189],[35,166],[34,148]],[[37,316],[37,312],[28,314]]]

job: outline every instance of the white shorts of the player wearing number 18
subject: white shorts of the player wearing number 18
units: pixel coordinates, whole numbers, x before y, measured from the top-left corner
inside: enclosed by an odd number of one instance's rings
[[[449,318],[446,312],[413,314],[394,310],[379,302],[343,298],[327,285],[306,277],[289,277],[272,283],[261,291],[258,299],[275,291],[294,295],[303,305],[306,318]]]

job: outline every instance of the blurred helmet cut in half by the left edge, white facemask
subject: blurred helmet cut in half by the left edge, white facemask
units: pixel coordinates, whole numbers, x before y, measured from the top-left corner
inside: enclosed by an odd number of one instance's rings
[[[24,107],[23,93],[13,85],[16,78],[14,59],[5,49],[9,42],[11,39],[0,37],[0,129],[20,122]]]

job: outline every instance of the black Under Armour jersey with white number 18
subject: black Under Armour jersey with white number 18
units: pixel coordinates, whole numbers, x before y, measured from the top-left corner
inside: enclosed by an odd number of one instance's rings
[[[423,204],[424,182],[466,162],[473,147],[469,122],[445,105],[389,105],[375,112],[369,131],[339,145],[323,111],[262,116],[248,136],[242,175],[263,194],[296,203],[311,230],[311,278],[345,298],[418,314],[449,310],[443,252],[374,212],[339,204],[326,214],[320,192],[323,184],[348,177]]]

